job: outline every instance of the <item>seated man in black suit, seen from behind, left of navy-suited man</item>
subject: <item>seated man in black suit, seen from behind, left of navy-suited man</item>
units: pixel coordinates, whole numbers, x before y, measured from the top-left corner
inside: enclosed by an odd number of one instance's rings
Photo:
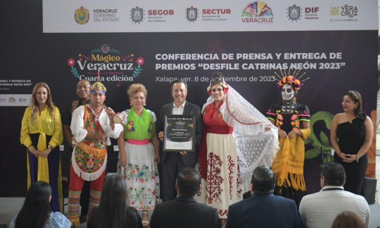
[[[216,210],[197,203],[194,198],[200,183],[201,176],[194,169],[185,168],[179,172],[175,184],[178,196],[156,205],[151,228],[220,228]]]

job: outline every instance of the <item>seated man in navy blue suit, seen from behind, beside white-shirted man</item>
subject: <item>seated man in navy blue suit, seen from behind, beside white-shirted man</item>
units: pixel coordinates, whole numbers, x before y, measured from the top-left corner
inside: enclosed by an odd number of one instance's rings
[[[267,166],[255,168],[250,191],[250,198],[228,207],[226,228],[304,227],[294,200],[273,195],[274,175]]]

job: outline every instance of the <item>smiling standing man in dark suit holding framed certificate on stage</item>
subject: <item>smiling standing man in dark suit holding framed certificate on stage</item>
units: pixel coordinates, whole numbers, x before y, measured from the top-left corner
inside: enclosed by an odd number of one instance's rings
[[[194,168],[198,162],[197,148],[202,138],[202,114],[199,106],[186,101],[188,85],[185,81],[176,80],[171,83],[171,95],[174,102],[161,107],[160,117],[157,121],[158,137],[163,140],[165,114],[195,115],[195,152],[177,151],[166,152],[162,150],[160,144],[160,161],[162,175],[160,184],[162,186],[162,201],[169,201],[175,198],[175,179],[177,174],[185,167]]]

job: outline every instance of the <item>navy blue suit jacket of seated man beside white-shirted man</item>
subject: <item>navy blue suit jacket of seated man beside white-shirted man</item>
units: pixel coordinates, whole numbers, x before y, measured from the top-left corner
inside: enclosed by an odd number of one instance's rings
[[[226,228],[304,228],[294,200],[271,193],[253,194],[228,207]]]

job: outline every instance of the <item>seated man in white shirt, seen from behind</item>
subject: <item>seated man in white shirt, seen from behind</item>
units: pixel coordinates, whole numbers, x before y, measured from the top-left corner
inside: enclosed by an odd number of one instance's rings
[[[322,168],[318,193],[305,195],[300,203],[302,222],[307,228],[330,228],[335,217],[343,211],[357,213],[368,227],[369,206],[361,195],[344,191],[346,174],[341,164],[328,163]]]

